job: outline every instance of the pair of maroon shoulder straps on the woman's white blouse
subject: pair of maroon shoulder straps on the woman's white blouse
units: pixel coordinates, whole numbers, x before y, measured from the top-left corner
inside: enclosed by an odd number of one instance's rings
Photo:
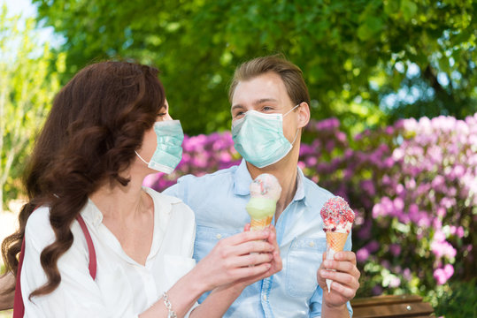
[[[89,254],[89,275],[96,279],[96,250],[93,245],[93,240],[91,235],[89,235],[88,227],[81,215],[76,216],[76,220],[80,223],[81,231],[83,231],[86,243],[88,244],[88,254]],[[15,299],[13,300],[13,317],[12,318],[22,318],[25,315],[25,305],[23,304],[23,297],[21,295],[21,268],[23,266],[23,258],[25,256],[25,237],[21,242],[21,251],[19,253],[19,268],[17,269],[17,281],[15,284]]]

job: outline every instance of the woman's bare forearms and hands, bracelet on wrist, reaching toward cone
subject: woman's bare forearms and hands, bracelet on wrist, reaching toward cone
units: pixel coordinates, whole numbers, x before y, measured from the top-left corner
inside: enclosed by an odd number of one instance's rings
[[[220,240],[210,254],[167,292],[177,316],[187,314],[204,292],[221,286],[207,298],[213,296],[212,299],[204,302],[205,306],[197,307],[193,314],[194,317],[221,317],[243,288],[251,283],[248,283],[250,277],[258,280],[270,269],[276,270],[273,265],[276,243],[269,242],[269,237],[274,238],[271,232],[246,231]],[[164,299],[159,299],[140,317],[166,317],[167,314]]]

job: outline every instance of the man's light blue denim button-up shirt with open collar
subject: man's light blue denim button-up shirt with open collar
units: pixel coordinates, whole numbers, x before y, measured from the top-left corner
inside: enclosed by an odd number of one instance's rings
[[[321,314],[323,291],[316,276],[327,241],[319,210],[333,194],[297,170],[295,197],[275,225],[283,269],[245,288],[224,317],[292,318]],[[251,181],[242,160],[239,166],[203,177],[179,178],[176,185],[165,190],[166,194],[181,198],[196,214],[196,261],[204,258],[219,239],[242,231],[243,225],[250,223],[245,205],[250,200]],[[347,251],[350,248],[351,235],[344,246]],[[352,314],[350,303],[348,309]]]

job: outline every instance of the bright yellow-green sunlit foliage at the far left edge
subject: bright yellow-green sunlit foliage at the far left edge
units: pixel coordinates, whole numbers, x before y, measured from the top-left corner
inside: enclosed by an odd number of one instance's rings
[[[0,202],[17,197],[19,176],[35,133],[59,88],[58,72],[50,72],[49,46],[35,42],[34,19],[8,17],[0,8]],[[58,55],[58,71],[65,55]]]

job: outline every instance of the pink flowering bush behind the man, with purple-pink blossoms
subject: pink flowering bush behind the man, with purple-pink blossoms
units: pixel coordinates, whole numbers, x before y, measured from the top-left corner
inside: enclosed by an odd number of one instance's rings
[[[353,250],[360,295],[435,295],[449,280],[474,276],[477,234],[477,114],[404,119],[347,136],[335,118],[304,132],[304,174],[350,202],[357,213]],[[163,190],[176,178],[240,163],[230,133],[186,137],[170,176],[150,176]],[[436,292],[437,291],[437,292]]]

